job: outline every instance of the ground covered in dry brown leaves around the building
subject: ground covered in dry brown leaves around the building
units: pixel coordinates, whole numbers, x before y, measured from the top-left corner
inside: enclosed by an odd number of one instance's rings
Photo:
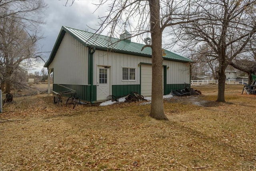
[[[256,95],[226,85],[194,87],[199,97],[164,101],[170,121],[150,105],[53,104],[47,94],[14,97],[0,123],[0,170],[256,170]],[[4,120],[0,120],[4,121]]]

